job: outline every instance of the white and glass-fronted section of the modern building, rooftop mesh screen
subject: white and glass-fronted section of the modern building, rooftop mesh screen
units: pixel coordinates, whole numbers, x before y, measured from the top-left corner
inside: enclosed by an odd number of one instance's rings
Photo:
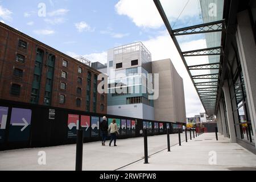
[[[151,53],[141,42],[108,50],[108,114],[154,120],[146,76],[152,73]],[[118,92],[119,90],[119,92]]]

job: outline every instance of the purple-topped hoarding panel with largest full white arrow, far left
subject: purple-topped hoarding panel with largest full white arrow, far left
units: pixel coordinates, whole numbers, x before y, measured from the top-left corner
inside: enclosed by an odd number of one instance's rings
[[[29,139],[31,114],[32,111],[30,109],[13,107],[11,110],[11,122],[9,129],[10,142],[21,142]]]

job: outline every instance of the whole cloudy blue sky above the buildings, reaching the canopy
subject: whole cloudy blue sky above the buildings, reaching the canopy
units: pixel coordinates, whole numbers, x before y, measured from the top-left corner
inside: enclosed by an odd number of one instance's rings
[[[174,28],[200,22],[197,0],[162,0]],[[0,21],[70,56],[106,63],[109,48],[141,41],[152,60],[170,58],[183,77],[187,117],[203,112],[163,20],[151,0],[0,0]],[[205,40],[186,40],[195,49]]]

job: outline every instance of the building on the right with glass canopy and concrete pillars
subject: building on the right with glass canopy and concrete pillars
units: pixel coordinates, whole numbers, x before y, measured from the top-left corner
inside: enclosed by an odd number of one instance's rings
[[[170,7],[154,2],[219,133],[256,152],[256,1],[202,0],[200,18],[175,30]],[[184,36],[205,44],[184,49]]]

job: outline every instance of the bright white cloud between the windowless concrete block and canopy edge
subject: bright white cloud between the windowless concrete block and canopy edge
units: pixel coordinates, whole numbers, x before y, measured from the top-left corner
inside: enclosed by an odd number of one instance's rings
[[[153,61],[170,58],[179,75],[183,77],[187,117],[193,117],[195,114],[199,114],[200,111],[204,111],[196,89],[192,84],[187,69],[183,64],[179,52],[177,52],[175,44],[170,35],[166,32],[165,34],[157,36],[156,38],[144,41],[143,44],[151,52]],[[186,44],[187,47],[195,46],[195,42]]]

